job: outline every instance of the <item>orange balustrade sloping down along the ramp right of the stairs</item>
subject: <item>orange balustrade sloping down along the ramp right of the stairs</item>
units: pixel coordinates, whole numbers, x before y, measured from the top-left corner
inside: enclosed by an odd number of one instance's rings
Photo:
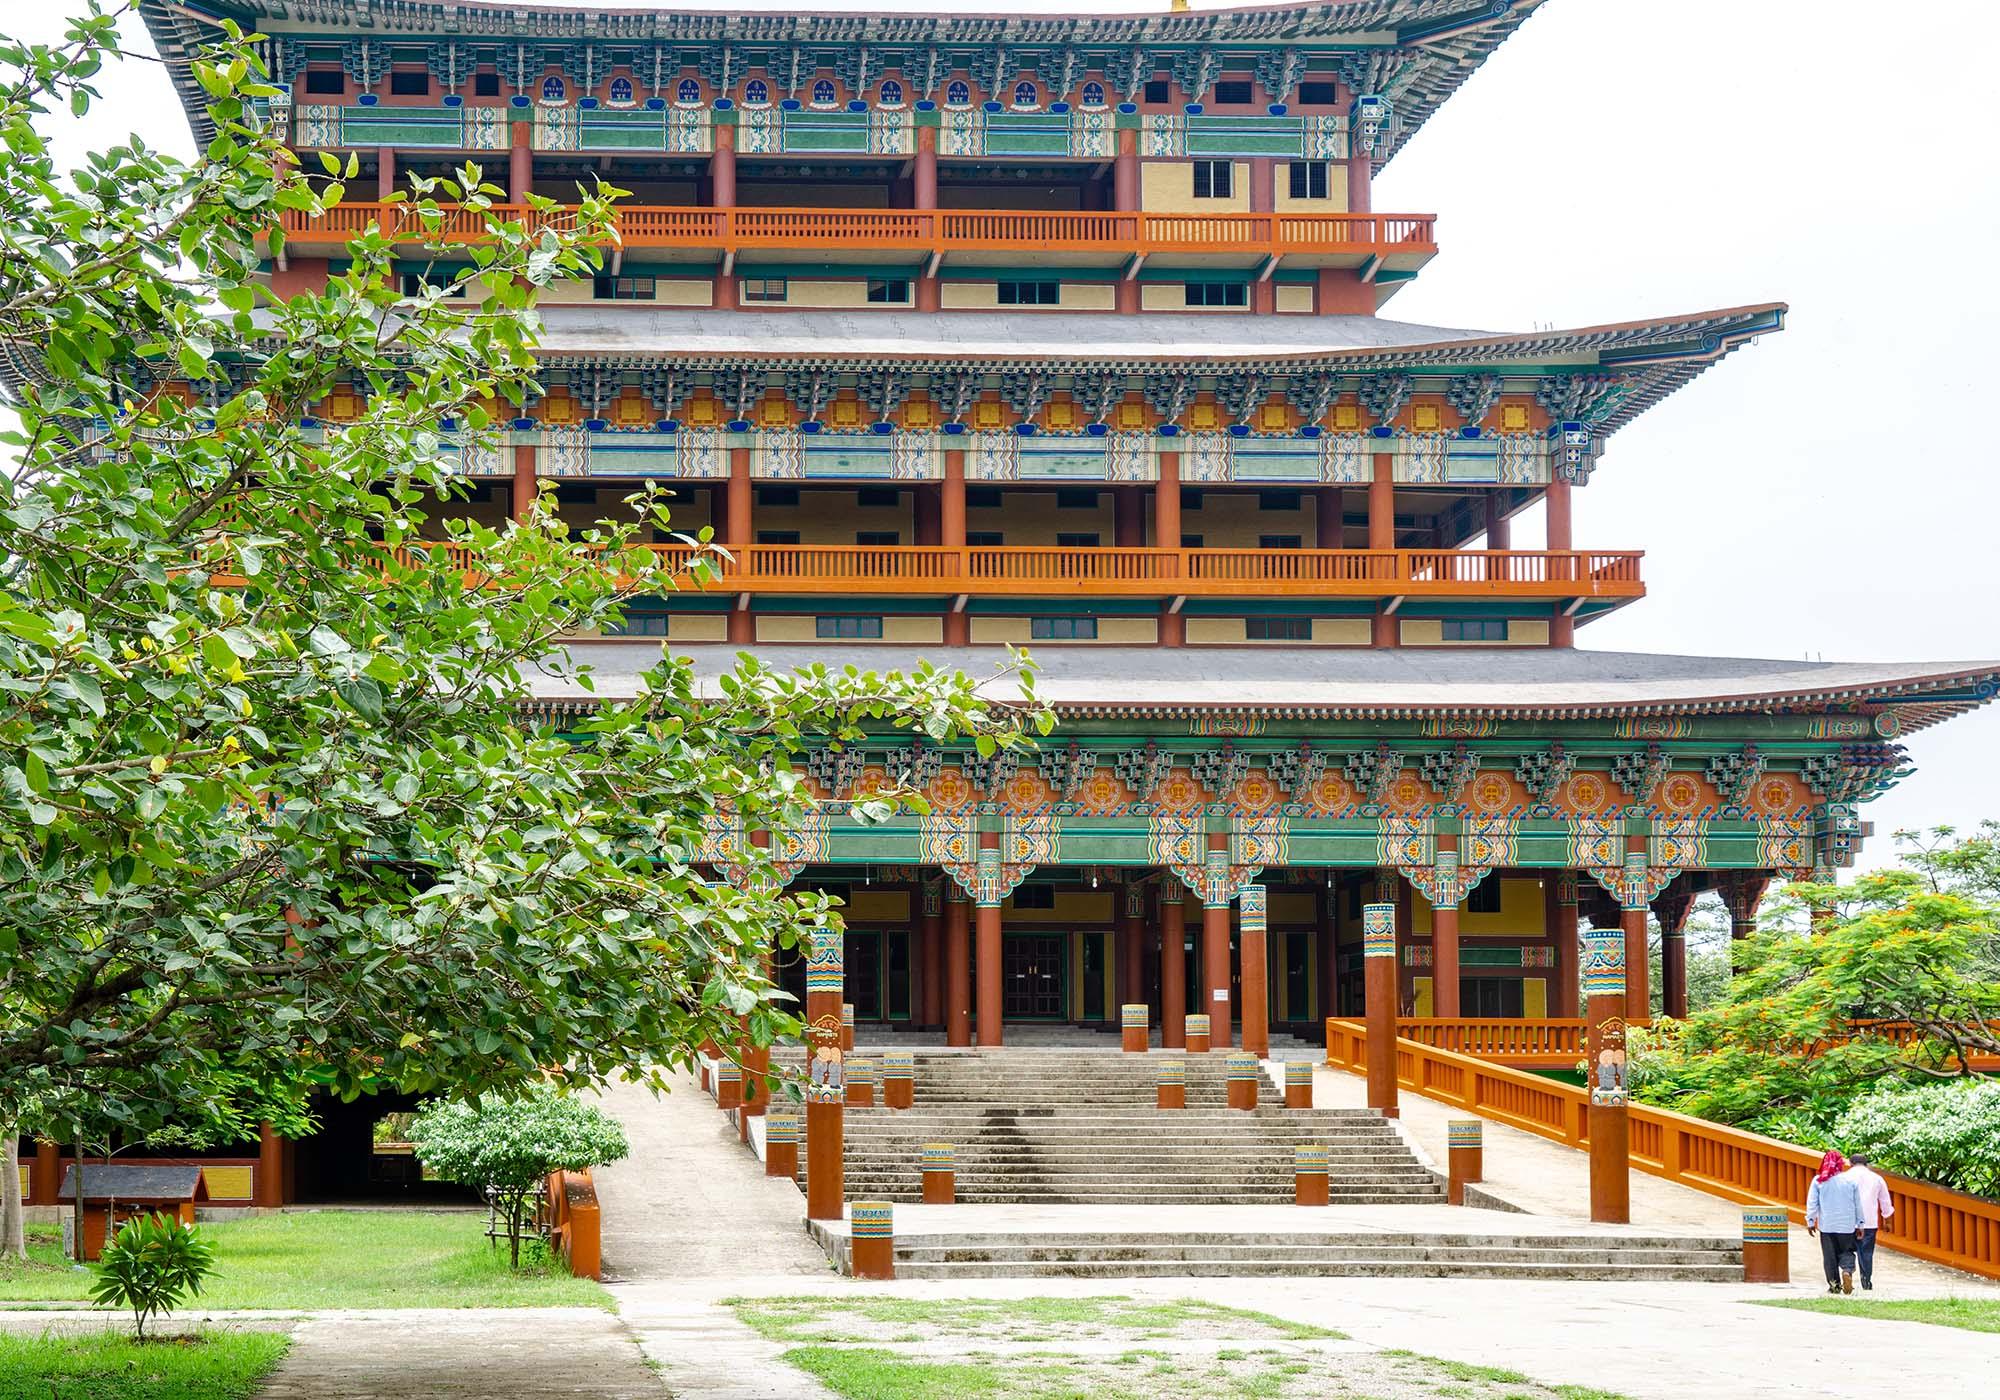
[[[1368,1028],[1358,1020],[1326,1022],[1326,1062],[1368,1072]],[[1540,1138],[1590,1144],[1588,1094],[1558,1080],[1514,1070],[1416,1040],[1396,1040],[1396,1082]],[[1740,1128],[1632,1104],[1632,1166],[1746,1206],[1782,1206],[1804,1220],[1806,1184],[1820,1162],[1812,1148],[1762,1138]],[[1882,1244],[1916,1258],[2000,1278],[2000,1202],[1888,1176],[1896,1214],[1882,1224]]]

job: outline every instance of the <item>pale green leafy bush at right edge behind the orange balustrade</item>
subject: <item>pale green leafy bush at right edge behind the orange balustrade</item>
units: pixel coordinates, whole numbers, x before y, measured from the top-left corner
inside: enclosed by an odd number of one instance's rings
[[[1840,1114],[1832,1138],[1884,1172],[2000,1198],[2000,1080],[1884,1084]]]

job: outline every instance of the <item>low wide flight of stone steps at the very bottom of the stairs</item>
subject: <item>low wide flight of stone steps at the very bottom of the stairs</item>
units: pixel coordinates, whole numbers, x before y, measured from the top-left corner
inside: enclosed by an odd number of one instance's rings
[[[896,1278],[1564,1278],[1742,1282],[1742,1244],[1678,1236],[912,1234]]]

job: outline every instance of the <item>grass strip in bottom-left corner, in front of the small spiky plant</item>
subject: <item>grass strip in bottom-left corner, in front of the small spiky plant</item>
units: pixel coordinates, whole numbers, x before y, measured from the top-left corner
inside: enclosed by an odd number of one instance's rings
[[[244,1400],[290,1346],[282,1332],[0,1332],[0,1400]]]

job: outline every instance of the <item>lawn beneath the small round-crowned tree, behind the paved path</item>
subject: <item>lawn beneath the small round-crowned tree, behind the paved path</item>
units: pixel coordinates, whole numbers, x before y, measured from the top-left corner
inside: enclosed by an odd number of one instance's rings
[[[202,1308],[610,1308],[562,1260],[508,1270],[478,1214],[310,1210],[204,1224],[216,1276]],[[60,1256],[54,1226],[30,1230],[28,1264],[0,1266],[0,1302],[74,1302],[88,1274]],[[48,1400],[46,1392],[38,1400]]]

